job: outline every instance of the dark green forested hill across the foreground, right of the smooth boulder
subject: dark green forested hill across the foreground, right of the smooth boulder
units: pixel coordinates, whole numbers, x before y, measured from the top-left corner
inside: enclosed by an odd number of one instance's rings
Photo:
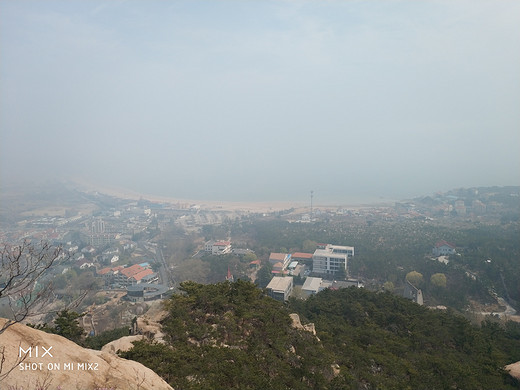
[[[167,345],[123,357],[175,389],[515,389],[520,327],[481,327],[389,293],[326,290],[282,304],[238,281],[182,284],[167,303]],[[289,313],[313,322],[295,329]]]

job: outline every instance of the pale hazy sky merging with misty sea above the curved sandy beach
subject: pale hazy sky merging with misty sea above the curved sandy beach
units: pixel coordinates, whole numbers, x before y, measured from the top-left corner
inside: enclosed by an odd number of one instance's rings
[[[0,172],[214,200],[520,184],[520,2],[0,0]]]

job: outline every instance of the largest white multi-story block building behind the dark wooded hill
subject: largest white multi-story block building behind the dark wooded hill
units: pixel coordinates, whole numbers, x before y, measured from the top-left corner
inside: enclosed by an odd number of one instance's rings
[[[335,275],[344,271],[348,274],[348,259],[354,256],[353,246],[320,245],[312,255],[312,272]]]

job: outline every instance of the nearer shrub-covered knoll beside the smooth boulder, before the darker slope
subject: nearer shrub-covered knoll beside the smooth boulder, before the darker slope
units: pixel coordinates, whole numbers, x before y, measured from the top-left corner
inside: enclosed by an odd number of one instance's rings
[[[279,302],[238,281],[182,284],[162,321],[168,345],[138,342],[122,356],[152,368],[177,389],[324,388],[331,356],[291,326]]]

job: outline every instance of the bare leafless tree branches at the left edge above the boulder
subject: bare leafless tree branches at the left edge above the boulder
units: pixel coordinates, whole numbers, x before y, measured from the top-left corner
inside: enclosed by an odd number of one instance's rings
[[[0,328],[1,334],[12,324],[44,310],[52,292],[46,272],[69,255],[61,246],[47,242],[34,245],[28,241],[20,245],[5,244],[0,255],[0,299],[7,301],[11,316]]]

